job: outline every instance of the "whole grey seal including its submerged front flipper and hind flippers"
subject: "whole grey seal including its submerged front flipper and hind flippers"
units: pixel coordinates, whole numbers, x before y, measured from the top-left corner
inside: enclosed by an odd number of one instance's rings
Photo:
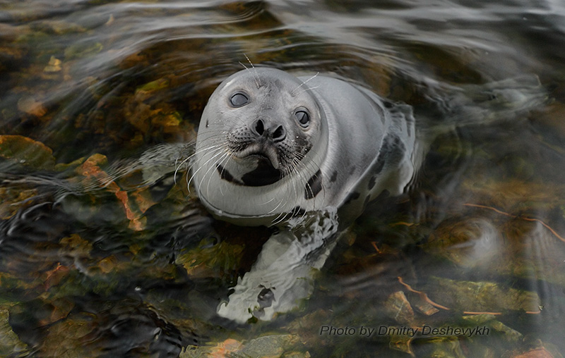
[[[436,135],[513,118],[540,97],[537,78],[450,92],[439,101],[449,120],[416,128],[412,107],[338,78],[249,68],[224,80],[203,111],[190,180],[216,218],[278,230],[218,315],[245,323],[299,307],[340,234],[371,200],[410,188]]]

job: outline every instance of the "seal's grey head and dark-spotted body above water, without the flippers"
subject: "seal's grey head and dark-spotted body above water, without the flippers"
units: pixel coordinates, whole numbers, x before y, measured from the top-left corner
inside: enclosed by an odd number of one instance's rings
[[[337,78],[249,68],[210,96],[191,180],[215,217],[238,225],[330,207],[341,221],[404,191],[415,137],[410,106]]]

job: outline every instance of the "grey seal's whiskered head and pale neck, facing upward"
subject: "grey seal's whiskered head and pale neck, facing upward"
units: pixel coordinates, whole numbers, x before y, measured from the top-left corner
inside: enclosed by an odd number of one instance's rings
[[[201,118],[198,195],[222,217],[288,212],[319,171],[327,137],[324,112],[304,82],[273,68],[235,73],[213,92]]]

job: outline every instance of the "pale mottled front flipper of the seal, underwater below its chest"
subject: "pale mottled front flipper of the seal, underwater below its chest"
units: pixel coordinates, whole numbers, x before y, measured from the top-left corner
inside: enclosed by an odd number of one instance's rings
[[[229,302],[218,306],[218,315],[239,323],[253,316],[270,321],[309,297],[313,275],[339,236],[337,210],[307,213],[293,225],[295,231],[281,230],[263,245],[251,271],[237,280]]]

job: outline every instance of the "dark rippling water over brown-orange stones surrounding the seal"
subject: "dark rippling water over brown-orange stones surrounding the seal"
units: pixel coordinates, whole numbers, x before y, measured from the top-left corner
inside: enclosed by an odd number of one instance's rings
[[[561,1],[1,1],[0,21],[0,356],[565,352]],[[194,140],[246,56],[365,85],[417,121],[492,120],[438,137],[299,310],[236,325],[215,308],[271,230],[214,221],[181,174],[141,185],[112,168]],[[544,101],[471,95],[522,76]]]

